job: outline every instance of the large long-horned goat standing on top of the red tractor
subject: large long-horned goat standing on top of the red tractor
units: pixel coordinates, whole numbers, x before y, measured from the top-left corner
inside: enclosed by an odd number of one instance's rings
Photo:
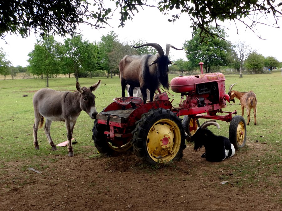
[[[122,86],[122,96],[125,96],[125,87],[130,85],[129,95],[133,96],[135,87],[140,87],[143,96],[143,101],[147,100],[147,89],[150,90],[150,101],[153,101],[156,89],[163,85],[165,89],[170,88],[168,79],[168,65],[174,64],[168,58],[170,47],[176,50],[183,50],[175,48],[170,44],[166,44],[166,53],[162,47],[157,43],[146,43],[140,46],[133,46],[134,48],[141,48],[143,46],[152,46],[158,54],[150,55],[126,55],[119,63],[120,81]]]

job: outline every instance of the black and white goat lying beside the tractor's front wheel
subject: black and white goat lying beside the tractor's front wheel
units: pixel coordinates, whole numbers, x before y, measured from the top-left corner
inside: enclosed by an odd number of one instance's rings
[[[218,162],[232,157],[235,154],[234,145],[230,143],[229,138],[214,135],[206,128],[210,125],[220,128],[219,124],[214,121],[203,123],[191,138],[191,141],[195,143],[194,149],[198,151],[204,146],[206,152],[201,157],[206,158],[207,161]]]

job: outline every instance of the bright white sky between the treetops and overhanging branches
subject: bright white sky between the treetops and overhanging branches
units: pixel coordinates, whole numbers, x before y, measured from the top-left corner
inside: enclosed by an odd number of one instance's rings
[[[118,13],[116,15],[118,15]],[[113,28],[107,26],[106,29],[97,30],[87,25],[81,25],[80,29],[83,39],[87,39],[89,42],[99,42],[102,35],[107,35],[113,30],[118,34],[118,39],[121,42],[126,41],[132,43],[134,40],[144,39],[148,43],[159,43],[164,49],[166,48],[166,43],[176,48],[182,48],[185,40],[192,38],[192,29],[190,28],[191,21],[188,15],[182,14],[180,20],[177,20],[175,23],[170,23],[167,19],[169,19],[171,15],[172,13],[169,16],[165,16],[156,8],[145,8],[145,10],[139,10],[139,13],[135,14],[132,21],[126,21],[125,27],[123,28],[118,28],[118,21],[112,21],[111,26]],[[273,23],[269,24],[273,25]],[[279,25],[282,27],[282,18],[279,19]],[[229,22],[226,22],[225,26],[229,26]],[[281,28],[277,29],[257,25],[255,30],[261,38],[265,39],[262,40],[250,30],[245,30],[242,24],[237,25],[237,27],[239,29],[239,35],[237,35],[233,22],[231,26],[228,27],[229,29],[226,29],[229,35],[228,40],[232,43],[236,43],[238,40],[245,41],[252,49],[257,50],[257,52],[264,57],[273,56],[278,61],[282,62]],[[63,43],[64,38],[55,37],[55,39]],[[13,66],[27,66],[29,64],[27,62],[29,59],[28,53],[34,49],[34,43],[36,43],[34,33],[28,38],[21,38],[21,36],[17,35],[7,35],[5,41],[8,44],[5,44],[5,42],[0,39],[0,47],[3,48]],[[172,61],[180,58],[186,60],[184,50],[177,51],[171,49],[170,55],[172,56],[170,58]]]

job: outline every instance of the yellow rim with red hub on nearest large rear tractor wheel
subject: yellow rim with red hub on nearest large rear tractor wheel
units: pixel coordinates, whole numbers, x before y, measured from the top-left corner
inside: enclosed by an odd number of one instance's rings
[[[149,156],[155,162],[167,163],[180,149],[180,128],[170,119],[161,119],[150,128],[146,144]]]

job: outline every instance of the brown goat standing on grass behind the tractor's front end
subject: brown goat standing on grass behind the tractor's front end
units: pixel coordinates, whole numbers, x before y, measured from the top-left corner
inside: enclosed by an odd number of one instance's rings
[[[256,112],[257,112],[256,94],[253,91],[238,92],[238,91],[232,90],[232,88],[235,84],[236,83],[231,84],[231,86],[229,88],[228,95],[230,97],[230,101],[235,103],[234,98],[238,98],[240,100],[241,108],[242,108],[242,116],[244,116],[244,108],[246,108],[247,114],[248,114],[247,125],[249,125],[249,123],[250,123],[251,109],[253,108],[254,125],[257,125],[257,121],[256,121]]]

